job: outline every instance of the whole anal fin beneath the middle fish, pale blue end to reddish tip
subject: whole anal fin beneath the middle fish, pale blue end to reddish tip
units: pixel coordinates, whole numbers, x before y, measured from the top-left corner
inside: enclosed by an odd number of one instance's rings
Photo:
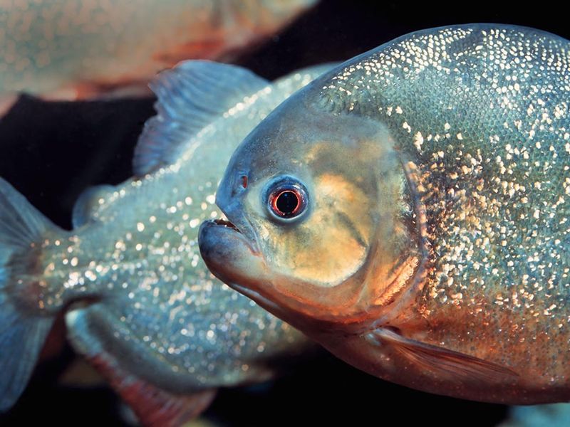
[[[89,309],[94,307],[91,305]],[[66,314],[68,337],[77,352],[108,381],[121,399],[130,406],[143,426],[177,427],[195,418],[212,402],[215,389],[203,389],[189,394],[175,394],[160,389],[124,369],[118,359],[108,352],[98,336],[86,333],[83,325],[87,308],[76,306]],[[131,361],[136,363],[135,360]]]

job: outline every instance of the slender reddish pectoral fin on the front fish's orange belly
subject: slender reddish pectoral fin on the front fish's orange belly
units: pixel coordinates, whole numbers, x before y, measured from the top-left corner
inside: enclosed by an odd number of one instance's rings
[[[390,343],[400,354],[423,369],[437,372],[438,376],[446,376],[452,381],[512,382],[518,376],[499,364],[408,339],[390,329],[378,328],[371,335],[376,342]]]

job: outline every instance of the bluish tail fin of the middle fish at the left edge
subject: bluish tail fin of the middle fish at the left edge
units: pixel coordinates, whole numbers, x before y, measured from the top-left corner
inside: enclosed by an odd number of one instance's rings
[[[56,226],[0,178],[0,411],[24,391],[54,320],[29,292],[37,280],[30,271],[33,256],[52,228]]]

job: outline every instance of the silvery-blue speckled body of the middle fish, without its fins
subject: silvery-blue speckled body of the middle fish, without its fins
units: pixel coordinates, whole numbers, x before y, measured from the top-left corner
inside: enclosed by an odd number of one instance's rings
[[[66,323],[79,352],[105,352],[123,371],[172,394],[273,376],[277,359],[309,342],[208,272],[198,226],[219,216],[214,194],[232,149],[322,70],[244,95],[188,140],[174,164],[105,186],[84,226],[44,236],[26,275],[33,280],[13,295],[21,310],[49,317],[71,304]]]

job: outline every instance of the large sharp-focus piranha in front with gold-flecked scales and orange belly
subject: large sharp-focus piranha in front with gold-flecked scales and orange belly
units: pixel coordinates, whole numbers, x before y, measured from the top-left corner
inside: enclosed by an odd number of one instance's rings
[[[570,43],[447,26],[357,56],[239,145],[214,275],[349,364],[435,394],[570,399]]]

